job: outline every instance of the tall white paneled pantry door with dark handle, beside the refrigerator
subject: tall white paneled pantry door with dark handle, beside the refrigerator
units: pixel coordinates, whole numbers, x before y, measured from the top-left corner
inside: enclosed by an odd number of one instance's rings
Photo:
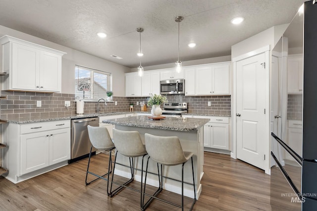
[[[265,168],[265,53],[237,62],[237,158]]]

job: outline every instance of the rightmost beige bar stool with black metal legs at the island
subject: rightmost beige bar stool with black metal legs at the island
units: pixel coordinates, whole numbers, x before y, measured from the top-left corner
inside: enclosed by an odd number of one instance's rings
[[[145,147],[149,154],[149,158],[147,161],[147,167],[146,167],[146,173],[145,173],[145,180],[144,180],[144,192],[143,192],[143,198],[145,196],[149,196],[154,199],[158,199],[162,202],[168,203],[170,205],[179,207],[184,210],[184,164],[191,159],[192,160],[192,172],[193,172],[193,187],[194,187],[194,201],[192,203],[192,206],[190,210],[193,209],[193,206],[196,202],[196,190],[195,190],[195,178],[194,178],[194,166],[193,166],[193,155],[192,152],[185,152],[182,149],[182,146],[180,144],[179,138],[177,136],[156,136],[151,135],[148,133],[145,133]],[[162,165],[165,166],[176,166],[182,164],[182,202],[181,206],[171,203],[166,200],[162,200],[157,198],[154,195],[149,195],[145,193],[146,188],[146,180],[147,180],[147,174],[148,174],[148,164],[149,159],[157,162],[160,164],[160,181],[162,181]],[[149,205],[151,201],[149,200],[148,203],[143,203],[143,209],[145,210]]]

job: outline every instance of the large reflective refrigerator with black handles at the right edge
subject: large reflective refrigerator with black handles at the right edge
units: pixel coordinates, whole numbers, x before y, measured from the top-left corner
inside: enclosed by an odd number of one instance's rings
[[[317,210],[317,2],[304,3],[271,61],[270,204]]]

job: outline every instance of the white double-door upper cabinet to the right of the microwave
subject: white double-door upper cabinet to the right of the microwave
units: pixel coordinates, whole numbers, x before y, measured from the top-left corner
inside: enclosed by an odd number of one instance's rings
[[[230,94],[229,63],[198,67],[195,76],[196,95]]]

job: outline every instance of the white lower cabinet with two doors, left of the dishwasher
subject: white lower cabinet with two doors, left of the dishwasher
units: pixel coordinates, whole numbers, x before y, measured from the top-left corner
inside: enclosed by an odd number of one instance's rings
[[[8,124],[3,128],[8,147],[3,163],[13,183],[67,165],[70,159],[70,120]]]

